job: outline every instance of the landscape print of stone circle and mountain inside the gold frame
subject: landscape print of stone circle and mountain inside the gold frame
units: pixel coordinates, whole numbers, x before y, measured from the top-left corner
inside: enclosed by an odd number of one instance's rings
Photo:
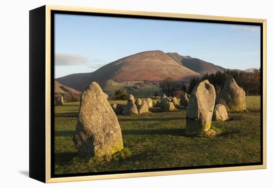
[[[53,176],[262,164],[261,26],[54,15]]]

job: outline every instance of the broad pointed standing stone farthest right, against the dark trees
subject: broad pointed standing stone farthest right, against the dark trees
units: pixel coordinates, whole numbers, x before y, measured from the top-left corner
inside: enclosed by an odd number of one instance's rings
[[[216,104],[223,104],[227,111],[246,109],[245,91],[240,88],[233,78],[225,82],[222,92],[216,99]]]

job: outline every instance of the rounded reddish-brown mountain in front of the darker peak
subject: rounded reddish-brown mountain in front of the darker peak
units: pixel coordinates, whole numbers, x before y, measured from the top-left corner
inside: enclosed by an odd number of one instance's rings
[[[93,73],[72,74],[56,80],[70,88],[83,91],[92,81],[99,83],[103,88],[109,81],[118,83],[143,80],[160,81],[167,77],[189,82],[192,77],[201,77],[201,74],[182,66],[170,55],[155,50],[119,59]]]

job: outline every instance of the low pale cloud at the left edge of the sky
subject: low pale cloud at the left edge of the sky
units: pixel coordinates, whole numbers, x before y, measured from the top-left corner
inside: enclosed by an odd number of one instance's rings
[[[55,65],[84,65],[88,64],[88,59],[81,55],[56,53],[55,54]]]

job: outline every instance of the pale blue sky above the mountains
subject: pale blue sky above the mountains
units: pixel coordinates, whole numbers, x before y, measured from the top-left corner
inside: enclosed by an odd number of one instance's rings
[[[148,50],[260,68],[260,26],[55,14],[55,78]]]

